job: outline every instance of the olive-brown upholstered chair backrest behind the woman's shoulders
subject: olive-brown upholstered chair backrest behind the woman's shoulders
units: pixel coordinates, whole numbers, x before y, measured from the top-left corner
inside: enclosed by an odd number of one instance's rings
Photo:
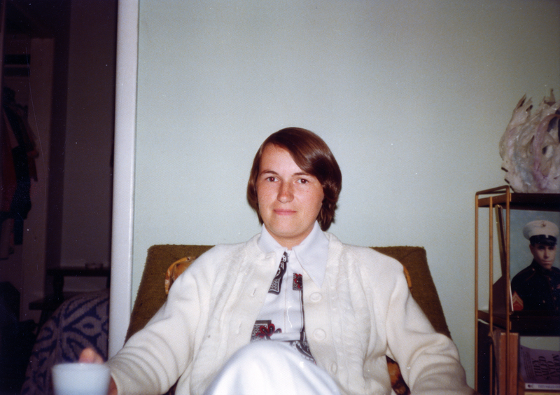
[[[148,323],[165,303],[165,273],[169,265],[185,257],[197,257],[213,246],[202,245],[154,245],[148,249],[144,273],[132,308],[132,316],[127,331],[127,340]],[[426,250],[422,247],[372,247],[382,254],[391,256],[402,263],[409,272],[412,282],[410,292],[428,317],[435,330],[450,337],[449,328],[442,310],[440,298],[433,283]]]

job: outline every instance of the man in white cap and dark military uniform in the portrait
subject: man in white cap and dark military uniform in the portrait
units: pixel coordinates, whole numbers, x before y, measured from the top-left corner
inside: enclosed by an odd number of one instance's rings
[[[554,268],[559,229],[550,221],[531,221],[523,228],[533,262],[512,279],[512,293],[523,301],[522,310],[560,314],[560,269]],[[517,309],[516,309],[517,310]]]

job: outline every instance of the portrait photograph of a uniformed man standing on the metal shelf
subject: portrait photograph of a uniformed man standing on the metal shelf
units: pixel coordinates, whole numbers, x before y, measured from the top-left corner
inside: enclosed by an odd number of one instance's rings
[[[544,229],[542,233],[550,233],[551,229],[553,232],[556,229],[557,232],[560,227],[560,212],[519,209],[510,211],[510,280],[513,310],[558,314],[560,301],[554,300],[560,296],[560,254],[556,254],[557,247],[552,245],[549,238],[544,239],[542,245],[539,243],[535,244],[536,247],[530,247],[531,242],[524,236],[524,228],[533,221],[541,222],[538,226],[533,223],[533,227],[529,227],[532,233],[538,233],[540,229]],[[558,236],[556,240],[557,238]],[[539,249],[545,252],[539,253]],[[542,256],[545,256],[544,260]]]

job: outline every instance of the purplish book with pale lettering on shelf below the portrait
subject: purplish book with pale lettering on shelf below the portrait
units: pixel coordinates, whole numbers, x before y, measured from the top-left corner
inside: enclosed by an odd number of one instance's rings
[[[524,389],[560,390],[560,352],[520,345],[519,380]]]

